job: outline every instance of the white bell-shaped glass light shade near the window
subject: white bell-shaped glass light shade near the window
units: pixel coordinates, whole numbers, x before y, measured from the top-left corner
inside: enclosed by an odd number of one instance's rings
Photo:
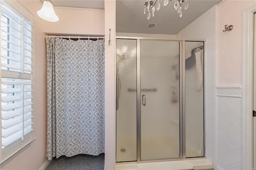
[[[50,21],[50,22],[57,22],[59,20],[59,17],[56,16],[52,3],[50,1],[45,0],[44,4],[41,8],[41,10],[39,10],[37,12],[38,16],[40,16],[40,18],[46,20],[46,21]]]

